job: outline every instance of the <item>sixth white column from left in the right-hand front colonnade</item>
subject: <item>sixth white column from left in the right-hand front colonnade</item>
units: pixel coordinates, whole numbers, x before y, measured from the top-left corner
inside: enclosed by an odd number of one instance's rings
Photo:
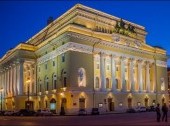
[[[146,61],[146,91],[150,92],[149,61]]]

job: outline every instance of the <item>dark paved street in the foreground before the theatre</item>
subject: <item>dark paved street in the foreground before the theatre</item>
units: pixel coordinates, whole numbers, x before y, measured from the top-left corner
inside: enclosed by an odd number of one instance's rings
[[[168,121],[170,122],[170,113]],[[45,117],[16,117],[1,116],[0,125],[170,125],[169,122],[156,122],[155,112],[121,113],[107,115],[87,116],[45,116]]]

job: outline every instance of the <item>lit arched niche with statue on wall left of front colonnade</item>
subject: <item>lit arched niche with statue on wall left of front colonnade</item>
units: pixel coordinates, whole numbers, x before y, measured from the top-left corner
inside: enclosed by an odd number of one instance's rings
[[[78,85],[79,87],[86,87],[86,72],[84,68],[78,69]]]

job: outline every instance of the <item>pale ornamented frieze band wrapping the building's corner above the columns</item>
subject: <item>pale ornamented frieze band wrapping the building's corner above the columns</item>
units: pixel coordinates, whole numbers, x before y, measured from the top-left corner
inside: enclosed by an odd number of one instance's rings
[[[58,55],[61,55],[62,53],[65,53],[67,51],[77,51],[77,52],[92,54],[93,53],[92,50],[93,50],[92,46],[88,46],[88,45],[84,45],[84,44],[78,44],[78,43],[74,43],[74,42],[68,42],[68,43],[60,46],[56,50],[38,58],[37,62],[38,62],[38,64],[42,64],[42,63],[44,63],[48,60],[54,59]],[[113,52],[113,51],[109,51],[109,50],[103,50],[103,49],[100,49],[100,48],[94,48],[94,53],[95,54],[101,53],[101,54],[105,54],[105,55],[116,55],[117,57],[133,58],[135,60],[142,59],[142,60],[146,60],[146,61],[149,61],[149,62],[154,62],[154,60],[152,60],[152,59],[141,58],[141,57],[132,56],[132,55],[124,54],[124,53],[117,53],[117,52]]]

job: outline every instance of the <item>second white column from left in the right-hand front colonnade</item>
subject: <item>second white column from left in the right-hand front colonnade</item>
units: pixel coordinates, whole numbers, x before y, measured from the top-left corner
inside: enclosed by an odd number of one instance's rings
[[[114,60],[115,56],[111,56],[111,74],[112,74],[112,91],[116,92],[116,63]]]

